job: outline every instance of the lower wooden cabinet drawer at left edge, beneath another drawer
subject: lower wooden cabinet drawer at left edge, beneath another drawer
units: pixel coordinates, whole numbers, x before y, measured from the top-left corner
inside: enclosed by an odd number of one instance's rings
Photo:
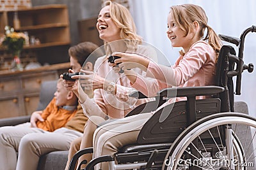
[[[0,99],[0,108],[0,118],[19,117],[19,99],[17,97]]]

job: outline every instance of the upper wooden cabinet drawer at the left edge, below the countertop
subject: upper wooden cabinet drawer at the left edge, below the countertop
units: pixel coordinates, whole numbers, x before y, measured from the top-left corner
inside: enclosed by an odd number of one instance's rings
[[[20,89],[20,79],[13,78],[12,80],[0,81],[0,94],[4,92],[17,92]]]

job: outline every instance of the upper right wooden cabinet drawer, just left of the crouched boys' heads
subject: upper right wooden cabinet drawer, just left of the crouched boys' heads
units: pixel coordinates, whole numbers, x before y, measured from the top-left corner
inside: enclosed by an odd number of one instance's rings
[[[56,72],[44,73],[34,75],[33,77],[23,77],[22,78],[22,89],[24,90],[40,90],[41,83],[43,81],[57,80],[58,74]]]

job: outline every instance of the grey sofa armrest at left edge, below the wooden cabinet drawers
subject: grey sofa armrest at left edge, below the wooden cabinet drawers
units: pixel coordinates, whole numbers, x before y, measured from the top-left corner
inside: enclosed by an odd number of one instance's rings
[[[19,125],[30,121],[30,115],[12,118],[0,118],[0,127],[6,125]]]

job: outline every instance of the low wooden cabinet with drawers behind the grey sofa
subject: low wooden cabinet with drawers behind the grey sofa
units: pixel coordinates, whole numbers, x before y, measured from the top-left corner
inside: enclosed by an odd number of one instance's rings
[[[67,62],[28,71],[0,73],[0,118],[30,115],[38,106],[41,83],[57,80],[68,67]]]

